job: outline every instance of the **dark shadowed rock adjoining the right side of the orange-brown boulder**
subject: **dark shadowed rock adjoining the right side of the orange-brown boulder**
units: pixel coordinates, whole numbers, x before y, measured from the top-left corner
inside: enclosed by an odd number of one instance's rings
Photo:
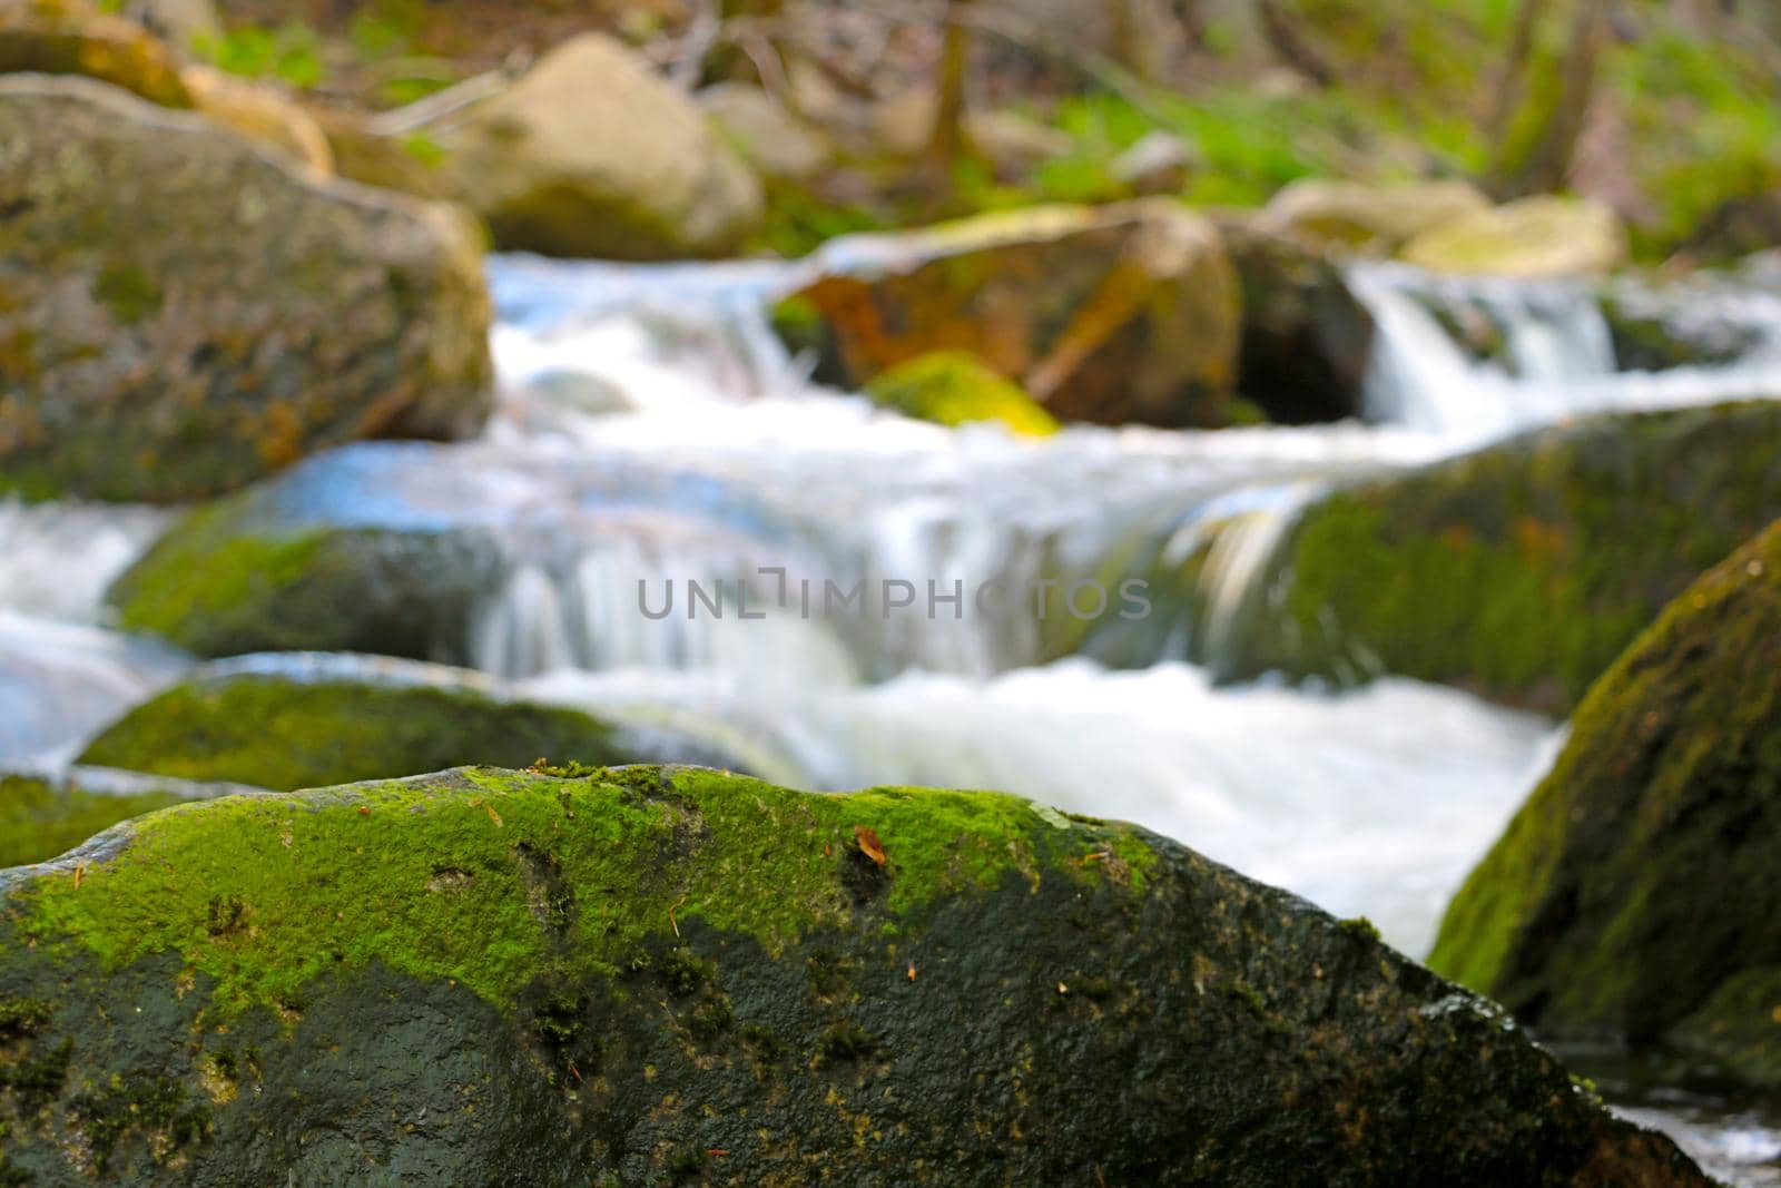
[[[1327,249],[1261,219],[1222,217],[1243,285],[1238,392],[1277,424],[1359,417],[1373,315]]]

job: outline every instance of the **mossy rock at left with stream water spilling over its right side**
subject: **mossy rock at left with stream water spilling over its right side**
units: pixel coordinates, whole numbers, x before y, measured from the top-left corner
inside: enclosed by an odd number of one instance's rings
[[[638,639],[609,638],[625,618],[595,629],[586,598],[638,606],[638,557],[716,590],[718,577],[800,557],[784,545],[800,524],[775,492],[641,460],[369,442],[191,513],[107,600],[121,627],[203,657],[606,668],[641,663],[625,650]],[[598,568],[614,556],[622,568]],[[515,588],[520,609],[508,613]],[[524,597],[540,588],[541,604]],[[650,625],[641,613],[634,622]]]

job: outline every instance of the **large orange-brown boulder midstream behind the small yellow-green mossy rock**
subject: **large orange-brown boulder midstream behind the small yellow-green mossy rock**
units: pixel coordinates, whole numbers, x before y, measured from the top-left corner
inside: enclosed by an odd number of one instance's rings
[[[1218,230],[1165,199],[832,242],[798,294],[848,379],[969,351],[1060,420],[1224,424],[1240,303]]]

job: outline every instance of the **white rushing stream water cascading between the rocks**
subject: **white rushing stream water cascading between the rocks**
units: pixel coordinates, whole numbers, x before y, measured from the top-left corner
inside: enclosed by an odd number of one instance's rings
[[[1366,424],[1035,442],[810,383],[764,319],[794,278],[492,262],[497,419],[479,442],[379,454],[374,479],[502,536],[499,595],[447,643],[531,696],[702,723],[782,782],[999,787],[1133,819],[1412,955],[1562,725],[1409,680],[1213,680],[1295,509],[1585,411],[1781,394],[1781,299],[1754,285],[1368,265],[1350,278],[1380,328]],[[1639,351],[1665,365],[1639,370]],[[331,497],[358,513],[351,484]],[[100,609],[164,520],[0,508],[0,766],[64,764],[187,668]],[[828,586],[864,595],[835,607]],[[1772,1113],[1672,1106],[1651,1117],[1719,1174],[1781,1183]]]

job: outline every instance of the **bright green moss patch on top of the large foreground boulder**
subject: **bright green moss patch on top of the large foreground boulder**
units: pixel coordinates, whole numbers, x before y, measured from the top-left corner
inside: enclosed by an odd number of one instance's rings
[[[844,924],[862,889],[860,825],[889,853],[867,891],[898,915],[1010,871],[1106,880],[1072,858],[1143,850],[1110,828],[1056,830],[990,793],[819,796],[703,769],[557,780],[484,768],[171,809],[80,885],[48,876],[14,912],[23,937],[105,967],[176,953],[214,980],[224,1012],[301,1003],[312,980],[372,962],[513,1005],[565,951],[616,978],[695,921],[769,951]],[[540,910],[527,853],[549,857],[565,910]],[[709,972],[677,969],[687,994]],[[702,1026],[720,1024],[721,1012]]]

